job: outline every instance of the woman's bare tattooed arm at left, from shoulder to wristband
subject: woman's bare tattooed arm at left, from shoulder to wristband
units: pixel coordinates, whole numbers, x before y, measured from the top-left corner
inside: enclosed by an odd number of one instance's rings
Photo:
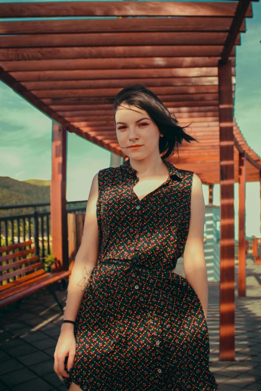
[[[77,251],[68,284],[64,320],[75,321],[79,307],[88,284],[92,269],[97,263],[99,252],[98,225],[96,218],[96,202],[98,197],[98,174],[91,183],[86,207],[84,229],[80,247]],[[63,323],[61,331],[71,331],[71,323]]]

